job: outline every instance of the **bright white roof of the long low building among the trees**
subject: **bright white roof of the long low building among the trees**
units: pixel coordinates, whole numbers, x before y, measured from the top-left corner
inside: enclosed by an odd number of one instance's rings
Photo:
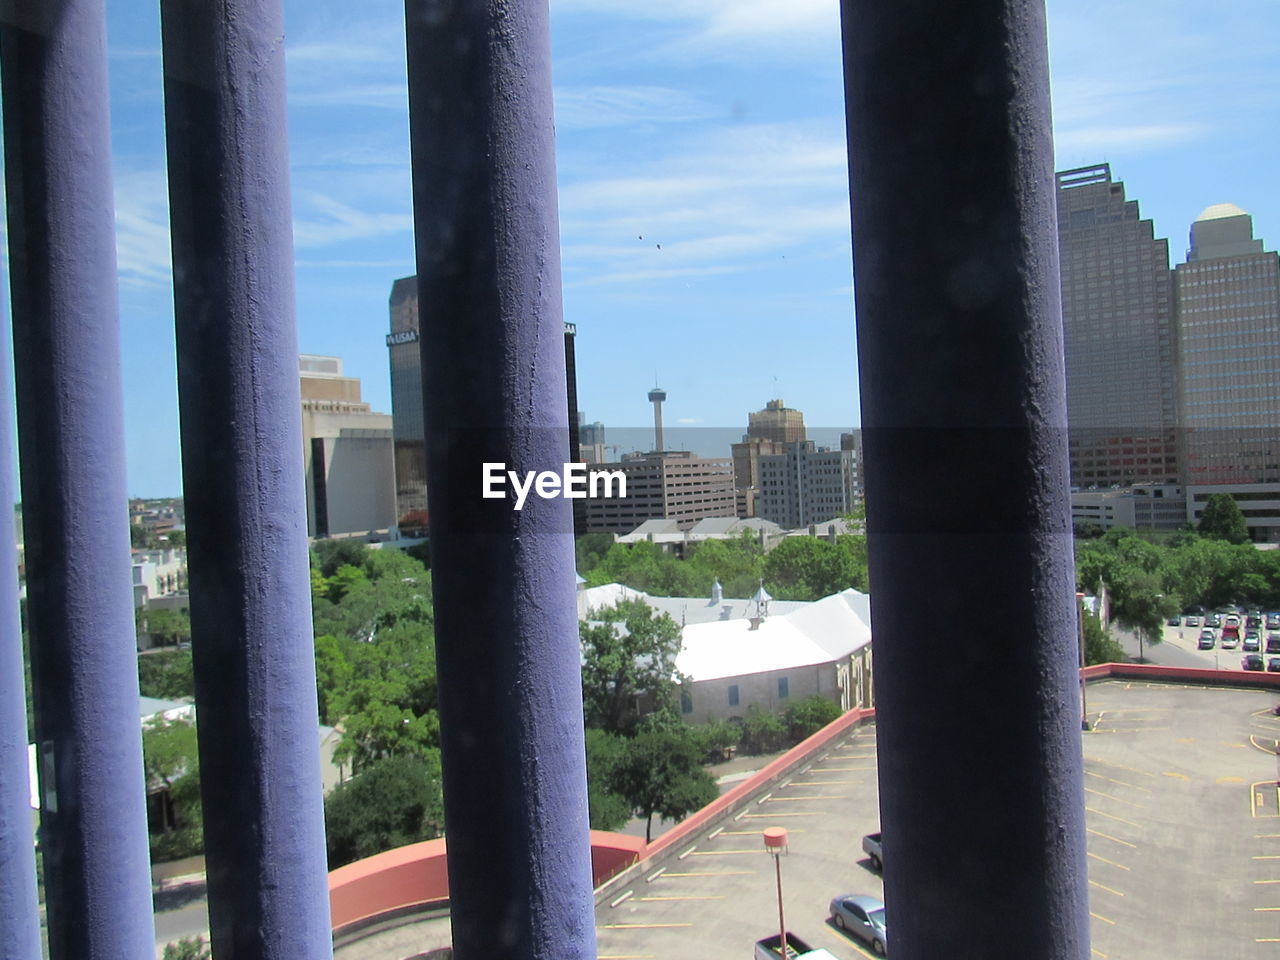
[[[676,668],[696,681],[831,663],[872,641],[869,618],[869,598],[850,589],[755,630],[742,620],[690,623]]]

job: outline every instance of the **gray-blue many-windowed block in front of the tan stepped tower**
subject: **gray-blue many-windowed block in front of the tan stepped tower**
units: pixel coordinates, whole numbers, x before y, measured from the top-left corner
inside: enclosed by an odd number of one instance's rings
[[[813,440],[781,447],[781,453],[760,457],[759,517],[795,530],[854,508],[860,488],[854,451],[818,449]]]

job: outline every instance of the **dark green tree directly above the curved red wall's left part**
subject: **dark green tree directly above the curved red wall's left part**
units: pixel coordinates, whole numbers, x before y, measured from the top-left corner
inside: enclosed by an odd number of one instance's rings
[[[444,833],[440,754],[370,763],[325,797],[329,869]]]

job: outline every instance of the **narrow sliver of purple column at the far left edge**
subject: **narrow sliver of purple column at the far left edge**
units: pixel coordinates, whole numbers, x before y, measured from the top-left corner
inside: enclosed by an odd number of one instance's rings
[[[0,544],[17,544],[9,375],[0,351]],[[27,692],[15,568],[0,567],[0,960],[40,960],[40,910],[27,781]]]

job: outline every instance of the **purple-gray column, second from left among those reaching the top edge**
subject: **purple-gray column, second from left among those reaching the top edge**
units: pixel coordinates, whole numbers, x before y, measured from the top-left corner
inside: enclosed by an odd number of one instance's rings
[[[160,5],[214,955],[332,954],[279,0]]]

